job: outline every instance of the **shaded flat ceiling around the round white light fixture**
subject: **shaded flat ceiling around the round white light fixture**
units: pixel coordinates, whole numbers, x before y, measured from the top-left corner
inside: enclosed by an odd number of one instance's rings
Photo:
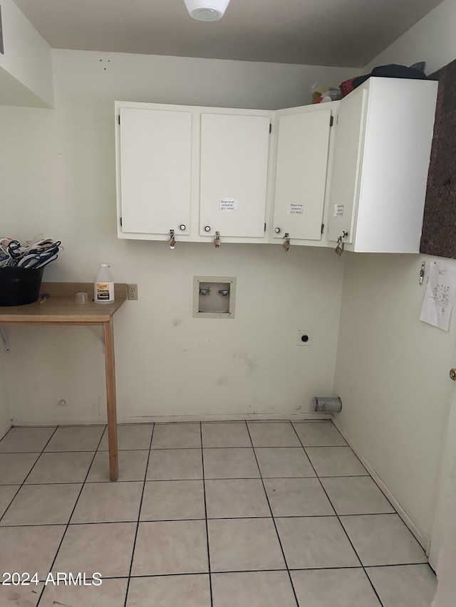
[[[362,68],[442,0],[14,0],[52,48]],[[416,60],[423,60],[417,57]]]

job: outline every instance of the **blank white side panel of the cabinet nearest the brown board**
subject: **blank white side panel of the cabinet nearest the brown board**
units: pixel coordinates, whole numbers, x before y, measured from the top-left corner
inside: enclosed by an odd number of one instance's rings
[[[354,250],[418,253],[420,248],[437,83],[405,84],[395,78],[369,83]]]

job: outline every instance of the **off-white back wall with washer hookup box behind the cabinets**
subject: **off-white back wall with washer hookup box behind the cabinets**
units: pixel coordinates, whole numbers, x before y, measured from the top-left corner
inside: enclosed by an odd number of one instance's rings
[[[63,241],[45,280],[91,280],[103,262],[139,284],[139,301],[115,317],[120,418],[288,417],[333,394],[343,260],[318,248],[118,240],[114,100],[276,109],[353,70],[77,51],[53,60],[55,110],[0,108],[2,229]],[[194,275],[237,277],[234,320],[192,318]],[[314,331],[311,347],[296,346],[299,329]],[[104,414],[98,329],[14,327],[8,364],[15,423]]]

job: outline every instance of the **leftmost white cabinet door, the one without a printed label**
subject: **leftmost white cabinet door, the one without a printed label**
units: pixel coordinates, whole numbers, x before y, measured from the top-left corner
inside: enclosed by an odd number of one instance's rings
[[[123,232],[189,233],[191,137],[190,112],[120,109]]]

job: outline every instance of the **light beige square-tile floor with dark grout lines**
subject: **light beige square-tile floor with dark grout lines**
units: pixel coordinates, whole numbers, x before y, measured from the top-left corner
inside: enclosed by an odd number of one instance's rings
[[[435,576],[331,421],[12,428],[0,607],[429,607]],[[44,584],[100,572],[100,586]],[[89,585],[87,585],[89,584]]]

